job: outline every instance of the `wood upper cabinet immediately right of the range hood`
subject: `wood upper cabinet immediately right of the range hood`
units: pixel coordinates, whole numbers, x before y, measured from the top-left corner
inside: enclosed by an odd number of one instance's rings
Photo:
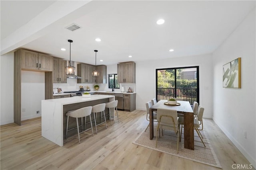
[[[92,69],[94,66],[89,64],[77,64],[77,75],[82,77],[77,79],[77,83],[94,83],[92,78]]]

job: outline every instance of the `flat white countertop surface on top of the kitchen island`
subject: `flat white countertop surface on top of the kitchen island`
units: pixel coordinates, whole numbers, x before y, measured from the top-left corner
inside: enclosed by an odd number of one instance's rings
[[[110,97],[114,97],[114,96],[95,94],[95,95],[91,95],[90,98],[82,98],[82,96],[78,96],[78,97],[73,97],[73,98],[48,99],[45,101],[55,102],[55,103],[59,103],[62,105],[66,105],[66,104],[74,104],[74,103],[87,102],[87,101],[92,101],[92,100],[105,99],[105,98],[110,98]]]

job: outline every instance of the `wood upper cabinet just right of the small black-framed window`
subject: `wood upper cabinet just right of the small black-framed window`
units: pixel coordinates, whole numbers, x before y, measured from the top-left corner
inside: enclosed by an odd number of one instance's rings
[[[118,83],[135,83],[135,72],[134,62],[117,64]]]

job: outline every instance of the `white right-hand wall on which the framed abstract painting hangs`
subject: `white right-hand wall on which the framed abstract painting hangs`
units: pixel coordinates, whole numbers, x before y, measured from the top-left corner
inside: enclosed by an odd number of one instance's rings
[[[213,53],[213,119],[254,167],[256,167],[255,20],[254,9]],[[222,88],[222,65],[238,57],[241,57],[242,63],[242,88]]]

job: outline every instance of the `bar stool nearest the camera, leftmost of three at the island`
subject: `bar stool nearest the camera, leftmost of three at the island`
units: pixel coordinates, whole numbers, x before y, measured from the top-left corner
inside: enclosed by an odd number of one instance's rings
[[[83,107],[81,109],[68,111],[68,113],[66,113],[66,116],[68,116],[68,118],[69,117],[76,118],[76,126],[77,127],[74,127],[72,129],[75,129],[75,128],[77,129],[79,143],[80,143],[80,132],[79,132],[79,125],[78,125],[78,118],[80,118],[80,117],[83,118],[83,117],[86,117],[86,116],[90,116],[91,128],[82,131],[82,127],[81,127],[81,133],[83,133],[85,131],[88,131],[88,130],[92,129],[91,113],[92,113],[92,106]],[[81,126],[82,126],[82,124],[81,124]],[[70,131],[72,129],[68,130],[68,120],[67,120],[66,139],[67,139],[67,136],[68,136],[68,131]],[[92,136],[93,136],[93,130],[92,130]]]

